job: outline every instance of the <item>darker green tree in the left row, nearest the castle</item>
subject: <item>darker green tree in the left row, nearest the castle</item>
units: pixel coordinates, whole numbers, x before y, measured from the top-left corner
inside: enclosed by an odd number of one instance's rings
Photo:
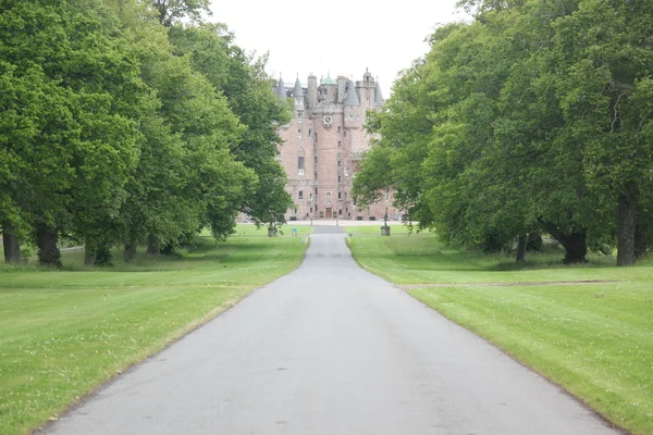
[[[245,126],[242,140],[233,141],[230,151],[256,173],[258,184],[245,197],[241,211],[257,223],[283,222],[292,198],[284,188],[283,167],[275,160],[281,142],[276,127],[288,121],[289,113],[270,92],[264,58],[245,53],[222,24],[173,26],[170,38],[175,53],[190,58]]]

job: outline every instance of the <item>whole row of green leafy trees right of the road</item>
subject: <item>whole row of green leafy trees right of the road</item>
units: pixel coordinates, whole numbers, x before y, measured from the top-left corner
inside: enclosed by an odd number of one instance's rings
[[[653,9],[648,0],[466,0],[368,128],[355,179],[421,228],[492,251],[549,234],[583,262],[653,240]]]

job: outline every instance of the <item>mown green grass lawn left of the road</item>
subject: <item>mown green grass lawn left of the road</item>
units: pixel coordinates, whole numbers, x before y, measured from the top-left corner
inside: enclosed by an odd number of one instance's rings
[[[0,266],[0,434],[28,433],[91,388],[294,270],[291,237],[200,237],[178,257],[94,270]],[[118,256],[116,256],[118,257]]]

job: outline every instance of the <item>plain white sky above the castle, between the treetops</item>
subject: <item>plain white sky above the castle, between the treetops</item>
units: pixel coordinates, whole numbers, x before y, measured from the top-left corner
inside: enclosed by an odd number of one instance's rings
[[[361,80],[366,67],[379,77],[383,97],[397,73],[429,47],[438,24],[459,20],[456,0],[343,2],[296,0],[212,0],[211,21],[225,23],[247,51],[270,51],[268,72],[305,85],[330,72]]]

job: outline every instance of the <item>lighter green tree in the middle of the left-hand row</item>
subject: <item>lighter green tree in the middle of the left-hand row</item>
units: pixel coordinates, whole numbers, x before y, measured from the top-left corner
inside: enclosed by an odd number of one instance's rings
[[[156,96],[127,185],[125,257],[132,259],[146,241],[149,253],[174,248],[204,225],[223,238],[256,183],[230,152],[245,127],[189,58],[173,52],[169,30],[148,20],[147,9],[124,21],[141,77]]]

